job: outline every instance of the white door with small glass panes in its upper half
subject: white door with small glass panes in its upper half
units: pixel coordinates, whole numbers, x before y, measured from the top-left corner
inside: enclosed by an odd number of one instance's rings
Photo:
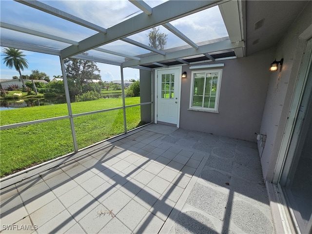
[[[181,69],[157,71],[157,121],[177,124]]]

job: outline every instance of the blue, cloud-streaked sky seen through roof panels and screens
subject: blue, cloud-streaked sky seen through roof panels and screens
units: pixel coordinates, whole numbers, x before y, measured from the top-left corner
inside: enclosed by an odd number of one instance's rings
[[[104,28],[109,28],[121,21],[127,20],[141,11],[128,0],[47,0],[42,1],[52,7],[57,7],[62,11],[77,16],[83,20],[95,23]],[[164,2],[164,0],[145,0],[151,7]],[[46,14],[37,9],[25,6],[21,3],[12,0],[0,1],[0,20],[1,22],[17,25],[20,27],[40,31],[50,35],[59,36],[65,39],[80,41],[88,38],[98,32],[60,19],[58,17]],[[218,7],[212,7],[207,10],[195,13],[193,15],[183,17],[171,22],[179,31],[185,34],[194,42],[201,42],[210,39],[228,36],[224,22]],[[149,44],[148,32],[146,30],[135,35],[129,36],[140,43]],[[159,32],[167,34],[166,48],[186,45],[186,42],[177,38],[163,26],[159,26]],[[70,44],[54,41],[51,39],[39,38],[32,35],[27,35],[20,32],[0,28],[1,39],[18,39],[29,44],[38,44],[44,47],[55,48],[58,50],[64,49]],[[116,51],[118,53],[136,56],[149,53],[148,50],[128,44],[121,40],[101,46],[101,48]],[[2,51],[1,47],[1,51]],[[32,70],[39,70],[46,73],[50,79],[53,76],[61,75],[60,62],[58,56],[40,54],[31,51],[23,51],[28,60],[28,69],[25,69],[22,74],[30,75]],[[97,51],[88,51],[89,56],[99,56],[101,59],[109,59],[117,62],[123,62],[124,58],[105,54]],[[2,54],[2,53],[1,53]],[[120,67],[97,63],[100,69],[101,79],[103,81],[120,80]],[[139,71],[132,68],[124,68],[124,79],[138,79]],[[2,61],[0,63],[0,78],[12,78],[18,76],[18,72],[14,69],[7,68]]]

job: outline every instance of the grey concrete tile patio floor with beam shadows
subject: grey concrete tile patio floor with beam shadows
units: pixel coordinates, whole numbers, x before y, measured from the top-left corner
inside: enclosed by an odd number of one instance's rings
[[[255,143],[152,124],[93,148],[1,189],[1,233],[274,233]]]

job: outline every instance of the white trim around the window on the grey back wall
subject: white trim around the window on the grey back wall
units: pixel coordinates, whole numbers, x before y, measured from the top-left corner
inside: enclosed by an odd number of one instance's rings
[[[193,93],[194,92],[194,75],[196,73],[218,73],[218,80],[217,80],[216,92],[215,92],[215,108],[192,106],[192,104],[193,104],[193,95],[194,95],[194,93]],[[221,78],[222,78],[222,69],[192,71],[191,91],[190,91],[190,107],[189,107],[188,110],[219,113],[218,112],[218,106],[219,106]]]

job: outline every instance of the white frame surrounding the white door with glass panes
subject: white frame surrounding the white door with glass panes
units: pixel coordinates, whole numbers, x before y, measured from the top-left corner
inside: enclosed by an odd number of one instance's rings
[[[154,98],[155,98],[155,123],[157,123],[157,112],[158,112],[158,71],[166,71],[166,70],[172,70],[172,69],[177,69],[178,70],[178,74],[179,76],[178,78],[178,87],[177,87],[177,93],[178,93],[178,98],[177,98],[177,119],[176,119],[176,127],[179,128],[180,127],[180,104],[181,104],[181,74],[182,74],[182,66],[172,66],[172,67],[168,67],[168,68],[157,68],[155,69],[155,94],[154,94]]]

